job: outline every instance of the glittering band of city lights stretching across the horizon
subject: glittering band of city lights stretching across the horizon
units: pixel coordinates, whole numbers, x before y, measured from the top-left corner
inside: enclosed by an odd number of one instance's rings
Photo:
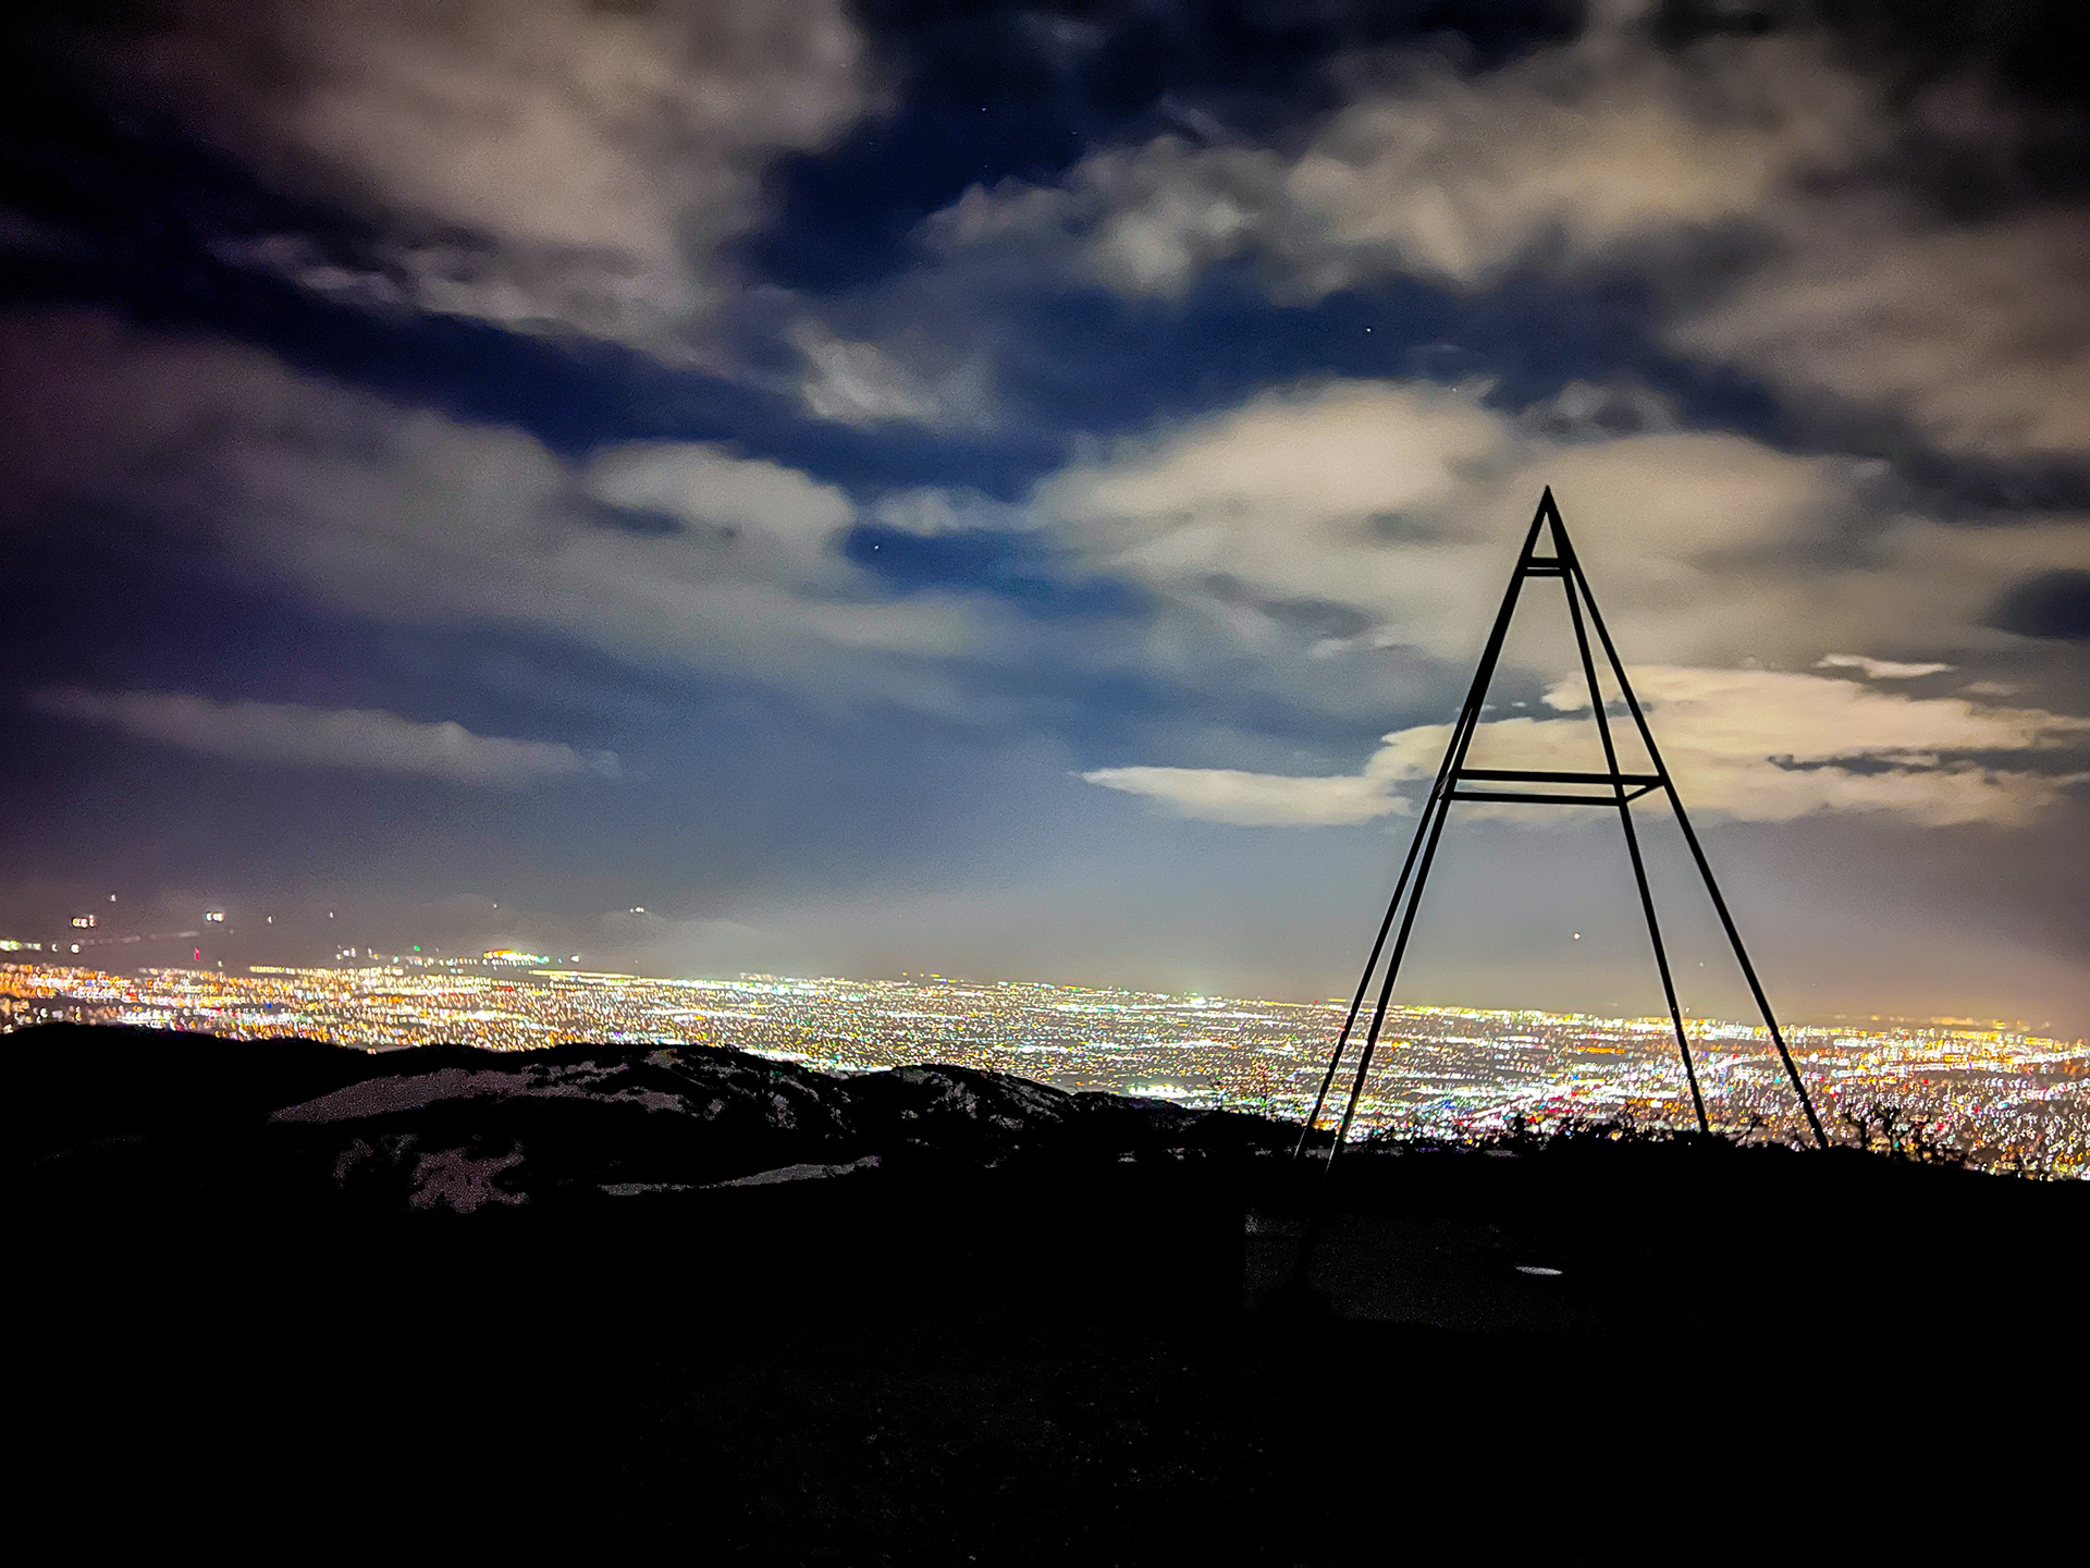
[[[836,1073],[949,1062],[1062,1089],[1300,1119],[1344,1014],[1325,1001],[936,976],[663,981],[531,968],[537,955],[514,949],[391,962],[343,949],[341,958],[336,968],[134,974],[0,964],[0,1024],[75,1018],[366,1050],[717,1045]],[[1762,1029],[1693,1020],[1691,1035],[1714,1127],[1804,1142],[1791,1085]],[[1975,1165],[2090,1175],[2090,1041],[1975,1020],[1866,1020],[1791,1027],[1787,1043],[1831,1131],[1850,1135],[1850,1116],[1891,1106]],[[1459,1139],[1513,1119],[1538,1129],[1570,1119],[1689,1125],[1668,1018],[1388,1012],[1356,1135]]]

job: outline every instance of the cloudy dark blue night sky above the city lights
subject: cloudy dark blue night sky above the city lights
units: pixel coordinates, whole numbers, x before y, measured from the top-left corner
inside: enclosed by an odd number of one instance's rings
[[[2090,1031],[2073,4],[10,17],[0,935]]]

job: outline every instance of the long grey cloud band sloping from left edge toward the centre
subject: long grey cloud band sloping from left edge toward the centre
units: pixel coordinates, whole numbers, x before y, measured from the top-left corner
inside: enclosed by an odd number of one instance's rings
[[[46,376],[52,358],[67,376]],[[993,608],[895,598],[840,546],[853,502],[702,441],[587,460],[531,435],[293,372],[251,347],[130,332],[90,312],[0,324],[0,385],[33,441],[0,518],[194,508],[236,573],[389,623],[522,627],[646,665],[832,698],[957,702],[940,661]]]

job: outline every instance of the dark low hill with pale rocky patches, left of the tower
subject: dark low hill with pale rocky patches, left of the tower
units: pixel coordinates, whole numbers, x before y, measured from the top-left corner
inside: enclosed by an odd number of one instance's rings
[[[6,1181],[50,1200],[472,1213],[876,1167],[1239,1160],[1275,1123],[997,1073],[700,1045],[355,1052],[44,1024],[0,1039]]]

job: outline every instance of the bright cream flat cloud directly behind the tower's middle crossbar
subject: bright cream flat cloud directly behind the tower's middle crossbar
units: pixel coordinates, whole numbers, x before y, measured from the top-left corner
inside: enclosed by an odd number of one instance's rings
[[[2090,771],[2038,767],[2090,746],[2090,719],[2002,709],[1963,696],[1910,698],[1858,682],[1768,669],[1632,671],[1655,742],[1685,805],[1743,822],[1789,822],[1818,811],[1875,811],[1927,828],[2023,826]],[[1582,771],[1601,767],[1580,682],[1547,705],[1574,717],[1484,719],[1469,763]],[[1622,715],[1622,767],[1645,765]],[[1407,811],[1396,792],[1434,778],[1450,725],[1386,736],[1356,776],[1287,778],[1193,767],[1112,767],[1091,784],[1141,794],[1175,815],[1244,826],[1344,824]],[[1639,757],[1634,755],[1639,753]],[[1513,822],[1555,820],[1532,807],[1459,807]],[[1570,809],[1570,807],[1561,807]]]

